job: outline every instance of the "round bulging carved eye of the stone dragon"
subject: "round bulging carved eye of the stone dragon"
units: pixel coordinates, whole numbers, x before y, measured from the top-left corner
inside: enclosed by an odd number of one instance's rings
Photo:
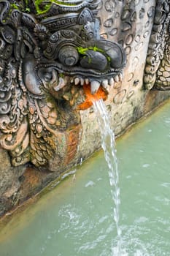
[[[79,54],[77,50],[73,46],[63,46],[58,53],[58,59],[61,61],[63,65],[72,67],[77,64],[79,60]]]

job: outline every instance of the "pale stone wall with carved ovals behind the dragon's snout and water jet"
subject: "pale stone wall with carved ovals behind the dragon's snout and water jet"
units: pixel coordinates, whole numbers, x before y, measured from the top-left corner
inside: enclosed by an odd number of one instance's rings
[[[116,135],[123,132],[126,127],[145,113],[150,112],[164,97],[169,97],[169,94],[161,94],[158,91],[149,93],[143,87],[144,67],[155,17],[155,4],[155,1],[148,0],[101,1],[101,9],[98,12],[101,34],[106,39],[119,42],[127,57],[123,69],[123,80],[117,81],[112,86],[106,101],[112,128]],[[100,147],[100,134],[93,129],[97,127],[93,109],[82,112],[82,116],[84,138],[90,136],[88,141],[82,140],[82,151],[83,154],[88,152],[90,155],[94,148]]]

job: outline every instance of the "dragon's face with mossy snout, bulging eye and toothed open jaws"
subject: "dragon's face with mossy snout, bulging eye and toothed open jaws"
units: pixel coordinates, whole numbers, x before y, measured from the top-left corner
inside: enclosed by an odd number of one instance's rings
[[[79,43],[74,43],[75,38],[78,38]],[[86,98],[90,94],[96,94],[96,99],[98,99],[99,92],[101,97],[106,99],[109,86],[122,80],[122,70],[125,66],[123,48],[115,42],[99,39],[87,42],[86,48],[77,45],[80,45],[80,38],[73,31],[55,32],[43,50],[45,59],[42,59],[40,66],[38,64],[35,67],[40,80],[43,81],[44,88],[50,89],[50,93],[55,98],[68,99],[74,108],[86,100],[82,99],[82,89],[84,89]],[[87,89],[89,86],[90,90]],[[71,96],[72,91],[76,91],[78,95],[78,90],[81,99],[78,102],[74,101],[73,104],[69,91]],[[85,105],[83,105],[84,108]],[[81,109],[80,106],[78,109]]]

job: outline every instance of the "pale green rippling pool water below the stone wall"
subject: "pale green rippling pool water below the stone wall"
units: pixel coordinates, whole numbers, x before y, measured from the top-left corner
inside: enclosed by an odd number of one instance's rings
[[[120,256],[169,256],[170,102],[116,146]],[[114,256],[113,207],[99,151],[0,231],[0,256]]]

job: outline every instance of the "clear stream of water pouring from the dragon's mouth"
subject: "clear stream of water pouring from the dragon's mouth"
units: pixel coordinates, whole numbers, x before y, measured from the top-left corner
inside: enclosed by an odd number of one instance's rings
[[[104,157],[109,167],[109,183],[111,186],[112,200],[114,202],[113,216],[117,229],[117,247],[114,249],[114,255],[121,255],[121,229],[119,226],[120,217],[120,188],[117,157],[115,150],[115,135],[109,124],[109,116],[103,99],[93,102],[93,107],[98,119],[98,125],[101,131],[101,146],[104,150]]]

